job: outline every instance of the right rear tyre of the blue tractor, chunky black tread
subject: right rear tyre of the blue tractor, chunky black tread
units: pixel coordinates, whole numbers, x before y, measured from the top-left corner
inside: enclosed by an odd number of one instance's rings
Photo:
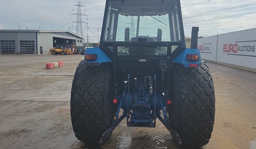
[[[214,125],[214,84],[208,65],[197,68],[175,64],[170,123],[185,147],[208,144]]]

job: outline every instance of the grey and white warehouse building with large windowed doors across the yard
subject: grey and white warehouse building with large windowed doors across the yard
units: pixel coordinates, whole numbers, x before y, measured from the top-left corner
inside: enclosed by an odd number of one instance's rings
[[[58,30],[0,30],[0,52],[48,54],[57,45],[83,46],[83,37],[70,31]]]

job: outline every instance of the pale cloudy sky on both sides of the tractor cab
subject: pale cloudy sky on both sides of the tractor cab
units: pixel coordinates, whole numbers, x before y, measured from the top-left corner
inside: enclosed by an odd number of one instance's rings
[[[81,0],[83,21],[89,23],[89,42],[98,42],[106,0]],[[76,31],[77,0],[0,0],[0,29]],[[211,36],[256,27],[255,0],[181,0],[185,36],[199,26],[200,36]],[[83,34],[87,36],[86,25]],[[100,32],[99,32],[100,34]]]

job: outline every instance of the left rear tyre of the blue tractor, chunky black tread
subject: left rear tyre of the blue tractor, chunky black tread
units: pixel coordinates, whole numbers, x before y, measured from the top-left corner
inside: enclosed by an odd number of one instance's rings
[[[104,131],[111,127],[111,67],[103,63],[87,67],[81,61],[71,90],[71,121],[75,136],[86,144],[98,144]]]

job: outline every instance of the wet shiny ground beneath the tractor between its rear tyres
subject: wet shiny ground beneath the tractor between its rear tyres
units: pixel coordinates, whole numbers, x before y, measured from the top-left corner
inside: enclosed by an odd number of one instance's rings
[[[165,126],[159,120],[156,123],[156,128],[132,128],[123,120],[102,148],[177,148]]]

